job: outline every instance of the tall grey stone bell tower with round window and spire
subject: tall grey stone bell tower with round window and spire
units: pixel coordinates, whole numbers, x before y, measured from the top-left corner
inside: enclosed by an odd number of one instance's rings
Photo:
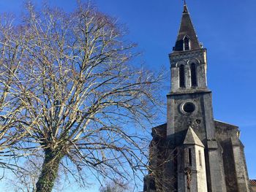
[[[222,147],[217,142],[211,91],[207,87],[206,48],[197,39],[186,3],[176,44],[169,58],[171,90],[167,95],[167,140],[173,159],[165,169],[170,174],[165,175],[175,178],[173,188],[178,191],[197,189],[203,192],[208,188],[208,191],[225,192]],[[193,133],[200,145],[186,145],[184,141],[189,132]],[[198,162],[190,167],[184,166],[184,159],[188,159],[188,156],[191,161],[200,159],[205,166],[200,167],[200,171],[196,166]],[[203,187],[206,183],[207,187]]]

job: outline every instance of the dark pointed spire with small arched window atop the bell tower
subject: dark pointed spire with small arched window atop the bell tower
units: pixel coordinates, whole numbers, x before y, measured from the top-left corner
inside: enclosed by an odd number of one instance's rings
[[[189,46],[187,46],[186,48],[184,48],[184,38],[189,39],[189,43],[188,43]],[[182,18],[181,18],[181,26],[179,28],[176,45],[175,47],[173,47],[173,50],[174,51],[195,50],[195,49],[199,49],[200,47],[201,46],[198,42],[197,34],[195,33],[195,28],[190,19],[186,1],[184,1],[184,9],[183,9]]]

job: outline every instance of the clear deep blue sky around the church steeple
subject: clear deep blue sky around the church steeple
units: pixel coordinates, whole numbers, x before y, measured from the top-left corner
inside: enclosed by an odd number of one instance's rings
[[[176,41],[181,0],[95,0],[99,9],[129,28],[145,65],[169,70],[168,53]],[[50,0],[69,11],[75,0]],[[256,179],[256,1],[187,0],[200,42],[208,50],[208,88],[213,91],[214,118],[237,125],[245,146],[251,179]],[[22,0],[0,1],[0,12],[22,11]],[[170,87],[162,90],[163,94]],[[89,190],[92,191],[92,190]]]

